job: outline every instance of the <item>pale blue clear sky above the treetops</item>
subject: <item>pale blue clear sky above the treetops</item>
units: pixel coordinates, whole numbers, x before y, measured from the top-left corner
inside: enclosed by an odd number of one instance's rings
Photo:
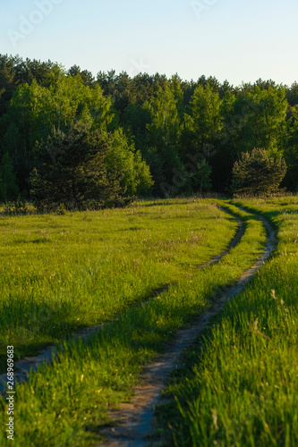
[[[297,0],[0,0],[0,54],[99,71],[298,81]]]

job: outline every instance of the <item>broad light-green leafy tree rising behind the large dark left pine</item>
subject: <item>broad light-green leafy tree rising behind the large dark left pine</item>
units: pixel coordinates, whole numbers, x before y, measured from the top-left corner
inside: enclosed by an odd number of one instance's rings
[[[30,171],[38,167],[37,140],[46,141],[55,130],[67,132],[76,120],[106,131],[112,119],[111,101],[98,85],[85,86],[80,75],[61,75],[49,88],[33,80],[16,89],[2,120],[2,142],[4,151],[13,157],[21,190],[26,188]]]

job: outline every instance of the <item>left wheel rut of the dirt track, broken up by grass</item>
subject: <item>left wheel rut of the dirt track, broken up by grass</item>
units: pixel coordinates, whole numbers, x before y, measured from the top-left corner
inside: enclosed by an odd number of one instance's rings
[[[223,208],[220,208],[220,209],[222,211],[224,211],[226,214],[232,215],[233,217],[235,217],[232,212],[227,211],[226,209],[223,209]],[[238,223],[238,231],[237,231],[236,235],[234,236],[234,239],[229,244],[228,248],[223,253],[221,253],[220,255],[217,255],[216,257],[213,257],[211,260],[209,260],[205,264],[203,264],[201,266],[197,266],[197,268],[202,269],[206,266],[211,266],[212,264],[215,264],[222,257],[224,257],[226,255],[226,253],[228,253],[230,251],[230,249],[232,249],[233,247],[235,247],[237,245],[239,240],[241,240],[241,238],[243,237],[244,225],[240,219],[236,218],[236,220]],[[174,285],[174,283],[166,284],[165,286],[157,289],[156,291],[153,291],[153,293],[152,293],[151,297],[148,299],[148,301],[150,299],[155,299],[163,291],[167,291],[171,285]],[[142,303],[143,302],[144,301],[142,301]],[[136,306],[140,306],[140,304],[137,304]],[[91,335],[93,333],[97,333],[98,331],[102,330],[108,324],[109,323],[106,323],[104,325],[88,327],[86,329],[81,330],[78,333],[74,333],[71,338],[74,340],[77,340],[78,338],[86,340],[86,339],[88,339],[89,335]],[[41,353],[38,356],[22,358],[21,360],[16,362],[14,364],[14,368],[15,368],[14,381],[18,384],[21,384],[22,382],[27,382],[29,380],[30,371],[37,371],[38,368],[42,367],[44,364],[52,363],[53,356],[55,357],[55,355],[56,355],[56,349],[57,349],[56,346],[49,346],[46,349],[41,350]],[[0,393],[2,393],[2,394],[4,394],[4,392],[6,391],[6,382],[7,382],[6,374],[0,375]]]

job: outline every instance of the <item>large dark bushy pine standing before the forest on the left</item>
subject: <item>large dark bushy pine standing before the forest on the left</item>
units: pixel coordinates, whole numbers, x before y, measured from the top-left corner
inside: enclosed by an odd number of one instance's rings
[[[107,176],[105,157],[110,142],[106,133],[76,122],[70,131],[55,131],[41,145],[43,164],[30,175],[31,198],[37,207],[64,204],[82,208],[123,204],[123,175]]]

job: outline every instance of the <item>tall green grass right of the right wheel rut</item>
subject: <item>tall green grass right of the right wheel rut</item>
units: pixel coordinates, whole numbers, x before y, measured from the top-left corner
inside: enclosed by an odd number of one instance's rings
[[[277,230],[277,249],[217,316],[158,410],[168,445],[298,445],[298,198],[241,200]],[[175,398],[175,400],[174,400]],[[167,428],[166,428],[167,427]],[[165,432],[164,432],[165,435]]]

